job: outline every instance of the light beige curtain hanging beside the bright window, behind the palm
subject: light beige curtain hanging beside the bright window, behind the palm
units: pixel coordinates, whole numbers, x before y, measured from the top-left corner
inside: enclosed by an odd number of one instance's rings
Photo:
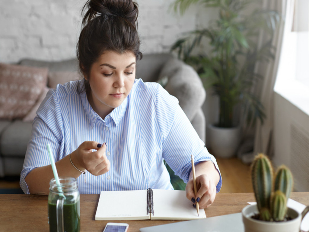
[[[253,142],[253,152],[240,155],[244,163],[251,163],[257,153],[265,153],[269,157],[273,156],[273,89],[276,81],[277,68],[281,54],[281,44],[286,19],[286,11],[289,8],[287,7],[287,4],[289,1],[290,0],[263,0],[263,8],[276,10],[279,12],[281,15],[281,21],[278,24],[277,33],[273,38],[273,45],[276,47],[275,59],[272,62],[268,62],[267,64],[259,64],[257,67],[258,73],[263,75],[263,81],[261,81],[259,86],[256,86],[256,91],[259,92],[260,101],[264,105],[267,118],[264,120],[263,124],[257,120],[254,139],[253,141],[251,139],[251,144]],[[260,44],[263,40],[265,40],[263,35],[260,36],[259,40]],[[243,146],[246,146],[246,144],[243,144]],[[242,150],[242,147],[240,147],[240,150]]]

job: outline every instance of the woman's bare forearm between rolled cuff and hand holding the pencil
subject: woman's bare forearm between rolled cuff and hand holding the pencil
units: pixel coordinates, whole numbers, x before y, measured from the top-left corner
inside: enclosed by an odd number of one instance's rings
[[[198,177],[202,174],[206,174],[210,178],[212,178],[216,185],[220,181],[220,174],[212,161],[202,161],[198,163],[197,165],[195,165],[195,176]],[[192,171],[189,175],[189,179],[191,178],[193,178]]]

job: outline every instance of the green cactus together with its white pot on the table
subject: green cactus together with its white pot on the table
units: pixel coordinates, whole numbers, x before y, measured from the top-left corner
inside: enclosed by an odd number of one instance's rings
[[[257,204],[242,210],[245,232],[299,232],[309,206],[301,214],[287,207],[293,189],[290,169],[280,166],[273,182],[273,167],[268,157],[260,153],[252,162],[251,178]]]

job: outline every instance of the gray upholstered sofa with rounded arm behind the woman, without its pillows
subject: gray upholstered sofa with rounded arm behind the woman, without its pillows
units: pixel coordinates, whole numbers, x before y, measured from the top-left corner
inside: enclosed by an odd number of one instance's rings
[[[54,88],[57,82],[64,83],[72,78],[66,75],[55,83],[55,73],[76,73],[76,59],[61,62],[46,62],[22,59],[19,65],[48,67],[48,87]],[[59,78],[59,76],[58,76]],[[206,97],[203,84],[194,69],[170,54],[145,54],[137,63],[136,78],[159,82],[167,91],[178,98],[179,104],[188,116],[200,138],[205,142],[205,116],[201,109]],[[0,177],[18,176],[22,170],[32,122],[22,119],[0,120]]]

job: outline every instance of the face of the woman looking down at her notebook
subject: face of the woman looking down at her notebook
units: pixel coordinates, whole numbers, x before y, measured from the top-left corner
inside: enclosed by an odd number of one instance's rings
[[[93,63],[89,78],[88,101],[101,118],[121,105],[129,95],[135,79],[136,58],[132,52],[104,52]]]

